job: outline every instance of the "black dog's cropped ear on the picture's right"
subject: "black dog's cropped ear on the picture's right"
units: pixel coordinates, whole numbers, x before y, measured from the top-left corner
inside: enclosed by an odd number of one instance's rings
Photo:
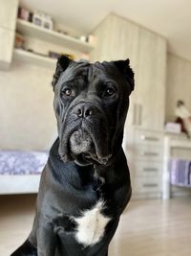
[[[126,60],[117,60],[114,61],[117,69],[123,74],[125,79],[130,83],[132,91],[134,90],[135,80],[134,80],[134,72],[130,67],[130,60],[127,58]]]

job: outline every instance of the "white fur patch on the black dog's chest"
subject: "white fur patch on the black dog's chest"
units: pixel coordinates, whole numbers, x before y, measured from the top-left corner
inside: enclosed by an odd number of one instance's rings
[[[75,235],[78,243],[84,246],[93,245],[103,237],[105,227],[111,220],[101,213],[103,208],[104,202],[99,200],[92,209],[84,211],[81,217],[74,219],[78,224]]]

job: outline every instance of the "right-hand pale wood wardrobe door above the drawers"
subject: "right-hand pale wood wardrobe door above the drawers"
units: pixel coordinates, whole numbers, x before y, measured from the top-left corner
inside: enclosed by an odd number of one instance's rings
[[[134,102],[135,125],[163,128],[165,111],[166,42],[140,29]]]

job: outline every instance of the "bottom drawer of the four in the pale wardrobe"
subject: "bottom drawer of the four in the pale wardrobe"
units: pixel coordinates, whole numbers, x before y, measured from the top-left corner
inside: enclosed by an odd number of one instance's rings
[[[160,192],[160,178],[135,178],[132,184],[133,193]]]

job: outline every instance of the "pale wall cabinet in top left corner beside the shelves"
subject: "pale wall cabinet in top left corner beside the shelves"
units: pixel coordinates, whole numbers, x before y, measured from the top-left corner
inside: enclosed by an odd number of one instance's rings
[[[11,64],[18,1],[0,0],[0,68]]]

